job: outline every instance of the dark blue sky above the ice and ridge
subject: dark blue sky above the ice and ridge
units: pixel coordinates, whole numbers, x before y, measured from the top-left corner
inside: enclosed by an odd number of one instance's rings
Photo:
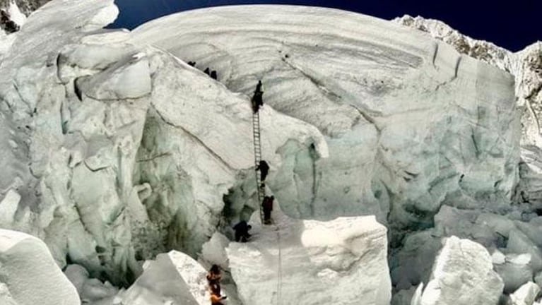
[[[326,6],[391,19],[408,13],[442,20],[476,39],[512,51],[542,40],[542,0],[115,0],[120,15],[110,28],[137,25],[178,11],[230,4]]]

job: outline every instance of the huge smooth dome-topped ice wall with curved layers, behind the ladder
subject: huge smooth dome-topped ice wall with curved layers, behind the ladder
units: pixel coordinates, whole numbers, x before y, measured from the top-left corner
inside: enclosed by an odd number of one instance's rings
[[[517,184],[513,79],[422,33],[323,8],[232,6],[153,20],[131,41],[210,66],[235,92],[261,78],[266,104],[324,133],[329,158],[279,150],[268,185],[288,215],[430,227],[443,204],[497,209]]]

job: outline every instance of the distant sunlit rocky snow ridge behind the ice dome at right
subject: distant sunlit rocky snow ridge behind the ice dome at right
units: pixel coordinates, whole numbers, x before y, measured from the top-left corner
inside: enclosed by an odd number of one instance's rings
[[[522,165],[519,172],[521,184],[517,192],[521,196],[518,199],[541,208],[539,148],[542,146],[542,42],[512,53],[490,42],[473,40],[439,20],[407,15],[393,21],[426,32],[431,37],[452,45],[461,54],[485,61],[514,75],[516,103],[522,121]]]

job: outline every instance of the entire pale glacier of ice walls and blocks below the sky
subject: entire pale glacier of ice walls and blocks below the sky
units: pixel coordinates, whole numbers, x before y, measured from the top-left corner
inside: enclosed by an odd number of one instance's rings
[[[65,304],[208,304],[213,263],[231,305],[536,304],[540,42],[301,6],[103,29],[117,13],[53,0],[0,33],[0,227],[34,236]],[[0,300],[25,304],[3,278]]]

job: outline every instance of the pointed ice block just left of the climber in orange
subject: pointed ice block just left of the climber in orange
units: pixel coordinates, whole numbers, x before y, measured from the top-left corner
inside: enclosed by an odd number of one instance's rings
[[[206,270],[177,251],[158,255],[120,296],[122,304],[130,305],[204,305],[210,297]]]

